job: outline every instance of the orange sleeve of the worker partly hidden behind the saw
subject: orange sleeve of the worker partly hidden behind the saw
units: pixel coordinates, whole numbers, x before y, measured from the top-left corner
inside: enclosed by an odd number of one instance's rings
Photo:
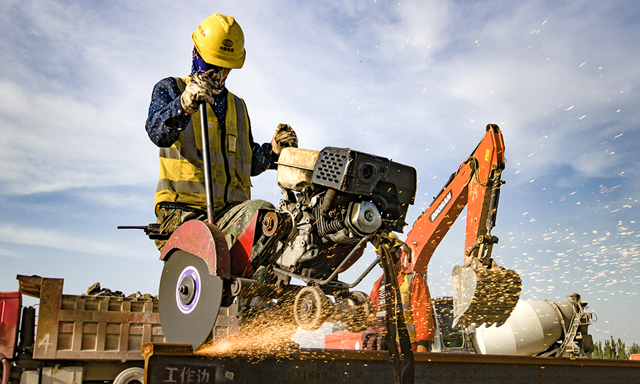
[[[411,284],[411,314],[415,324],[418,351],[426,351],[434,336],[433,309],[429,287],[421,274],[415,274]],[[424,347],[425,349],[420,347]]]

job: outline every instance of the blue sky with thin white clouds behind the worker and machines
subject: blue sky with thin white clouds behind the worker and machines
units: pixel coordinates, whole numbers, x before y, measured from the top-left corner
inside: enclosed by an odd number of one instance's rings
[[[155,220],[151,90],[188,75],[191,32],[213,12],[245,32],[245,67],[227,85],[245,99],[256,141],[287,122],[301,147],[415,166],[410,223],[486,124],[500,125],[494,256],[522,275],[523,298],[578,292],[597,314],[596,340],[640,343],[634,1],[6,1],[0,291],[39,274],[63,277],[69,294],[94,282],[157,292],[153,242],[116,226]],[[254,178],[253,197],[277,202],[275,176]],[[459,220],[430,263],[434,297],[452,294],[463,238]]]

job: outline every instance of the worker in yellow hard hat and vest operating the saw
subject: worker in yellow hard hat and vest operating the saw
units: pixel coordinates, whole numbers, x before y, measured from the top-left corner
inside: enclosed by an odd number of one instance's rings
[[[230,71],[245,63],[245,37],[231,16],[212,14],[191,35],[193,58],[187,78],[164,78],[154,87],[146,132],[160,147],[155,213],[170,235],[187,220],[206,219],[199,105],[207,104],[215,220],[229,247],[254,213],[273,208],[250,200],[250,176],[275,169],[282,148],[298,146],[294,130],[279,124],[270,143],[253,141],[244,100],[225,87]],[[162,250],[166,240],[156,240]]]

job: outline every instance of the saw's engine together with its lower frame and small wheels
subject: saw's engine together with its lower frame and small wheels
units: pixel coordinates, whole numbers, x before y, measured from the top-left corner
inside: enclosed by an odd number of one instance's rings
[[[415,198],[415,169],[346,148],[287,148],[279,156],[277,183],[284,198],[262,216],[252,272],[265,268],[275,291],[289,292],[303,329],[329,319],[366,329],[370,300],[349,289],[376,263],[352,284],[340,282],[338,273],[361,257],[370,235],[402,232]],[[292,278],[307,287],[290,285]]]

